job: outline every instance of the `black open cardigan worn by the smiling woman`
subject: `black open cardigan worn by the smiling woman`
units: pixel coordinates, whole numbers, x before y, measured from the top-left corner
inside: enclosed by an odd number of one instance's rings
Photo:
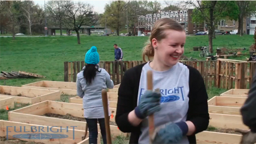
[[[139,81],[143,65],[145,64],[137,65],[127,70],[118,89],[115,122],[121,132],[131,133],[129,143],[138,143],[141,133],[141,125],[132,126],[128,121],[128,114],[137,106]],[[189,109],[187,120],[192,121],[196,128],[195,133],[188,136],[188,139],[189,143],[196,143],[195,134],[206,130],[209,124],[208,95],[199,71],[188,65],[186,66],[189,68]]]

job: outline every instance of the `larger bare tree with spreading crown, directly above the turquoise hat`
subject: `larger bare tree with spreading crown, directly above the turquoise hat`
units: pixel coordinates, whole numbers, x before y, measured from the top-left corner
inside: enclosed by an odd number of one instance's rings
[[[77,34],[77,43],[80,44],[79,29],[82,26],[92,26],[95,20],[93,19],[93,7],[90,4],[83,2],[65,1],[63,5],[64,17],[63,24],[70,30],[74,30]]]

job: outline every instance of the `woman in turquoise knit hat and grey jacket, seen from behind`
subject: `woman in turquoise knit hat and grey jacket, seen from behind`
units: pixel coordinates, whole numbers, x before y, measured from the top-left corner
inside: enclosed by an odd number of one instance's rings
[[[83,109],[89,129],[89,143],[97,143],[98,125],[104,143],[107,143],[105,131],[102,89],[113,89],[114,83],[104,68],[99,68],[99,54],[92,46],[85,55],[86,66],[77,74],[77,95],[83,98]],[[110,109],[108,109],[108,114]],[[110,115],[109,115],[110,116]]]

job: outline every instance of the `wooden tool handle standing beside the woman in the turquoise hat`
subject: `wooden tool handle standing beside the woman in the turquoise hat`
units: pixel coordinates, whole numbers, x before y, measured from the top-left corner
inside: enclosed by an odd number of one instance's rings
[[[107,90],[103,89],[101,91],[102,95],[102,104],[104,108],[104,115],[105,115],[105,129],[107,133],[107,143],[111,142],[111,133],[110,133],[110,116],[108,115],[108,96],[107,96]]]

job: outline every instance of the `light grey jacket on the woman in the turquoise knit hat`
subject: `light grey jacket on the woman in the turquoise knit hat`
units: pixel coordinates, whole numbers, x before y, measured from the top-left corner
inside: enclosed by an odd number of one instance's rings
[[[114,83],[110,79],[110,74],[104,69],[99,68],[96,72],[95,78],[90,85],[86,84],[85,77],[83,77],[82,71],[77,74],[77,95],[83,98],[83,109],[85,118],[104,118],[104,109],[102,104],[102,89],[113,89]],[[109,102],[108,102],[109,104]],[[110,109],[108,109],[110,115]]]

